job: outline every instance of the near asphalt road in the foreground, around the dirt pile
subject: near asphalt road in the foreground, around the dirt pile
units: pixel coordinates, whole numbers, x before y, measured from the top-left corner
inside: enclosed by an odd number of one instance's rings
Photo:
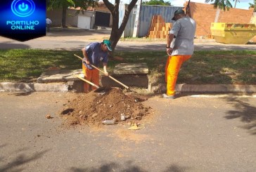
[[[65,128],[72,93],[0,93],[0,171],[255,171],[256,99],[143,102],[143,129]],[[51,114],[53,119],[46,119]]]

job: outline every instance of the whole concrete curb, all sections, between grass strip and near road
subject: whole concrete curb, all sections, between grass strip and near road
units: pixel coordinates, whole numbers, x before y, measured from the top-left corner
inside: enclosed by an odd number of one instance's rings
[[[69,84],[66,83],[39,84],[0,82],[0,91],[5,92],[68,92],[68,88]],[[184,93],[256,93],[256,85],[177,84],[175,90]],[[148,91],[151,93],[165,93],[166,84],[159,84],[158,86],[151,86],[151,84],[149,84]]]

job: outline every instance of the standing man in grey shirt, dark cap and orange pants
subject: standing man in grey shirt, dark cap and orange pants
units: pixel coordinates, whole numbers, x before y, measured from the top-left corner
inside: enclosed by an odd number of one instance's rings
[[[191,18],[189,7],[186,8],[186,11],[190,17],[186,16],[182,9],[174,12],[172,20],[175,22],[167,36],[166,51],[169,55],[165,67],[167,93],[162,95],[163,98],[175,98],[175,85],[181,65],[191,58],[194,51],[193,39],[196,33],[196,21]]]

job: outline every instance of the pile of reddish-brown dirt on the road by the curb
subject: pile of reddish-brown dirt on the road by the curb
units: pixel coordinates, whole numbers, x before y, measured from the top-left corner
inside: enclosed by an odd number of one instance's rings
[[[151,107],[145,107],[141,102],[147,100],[142,95],[124,94],[120,88],[106,88],[103,93],[91,91],[87,94],[77,94],[68,101],[61,112],[65,123],[71,126],[89,124],[100,126],[104,120],[115,120],[115,124],[137,124],[151,114]]]

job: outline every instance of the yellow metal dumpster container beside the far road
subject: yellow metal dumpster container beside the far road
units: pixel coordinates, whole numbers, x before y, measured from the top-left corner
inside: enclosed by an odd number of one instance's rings
[[[246,44],[256,35],[254,24],[212,22],[211,32],[215,41],[224,44]]]

